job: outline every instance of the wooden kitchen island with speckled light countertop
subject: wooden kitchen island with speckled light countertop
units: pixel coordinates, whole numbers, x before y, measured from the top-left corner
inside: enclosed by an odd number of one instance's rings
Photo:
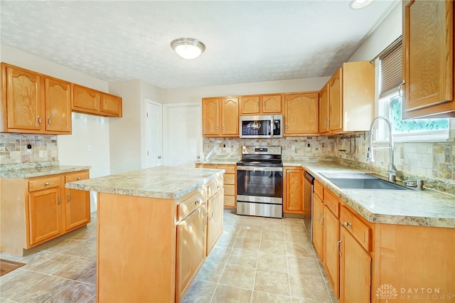
[[[98,192],[98,302],[180,302],[223,232],[223,170],[158,166],[66,184]]]

